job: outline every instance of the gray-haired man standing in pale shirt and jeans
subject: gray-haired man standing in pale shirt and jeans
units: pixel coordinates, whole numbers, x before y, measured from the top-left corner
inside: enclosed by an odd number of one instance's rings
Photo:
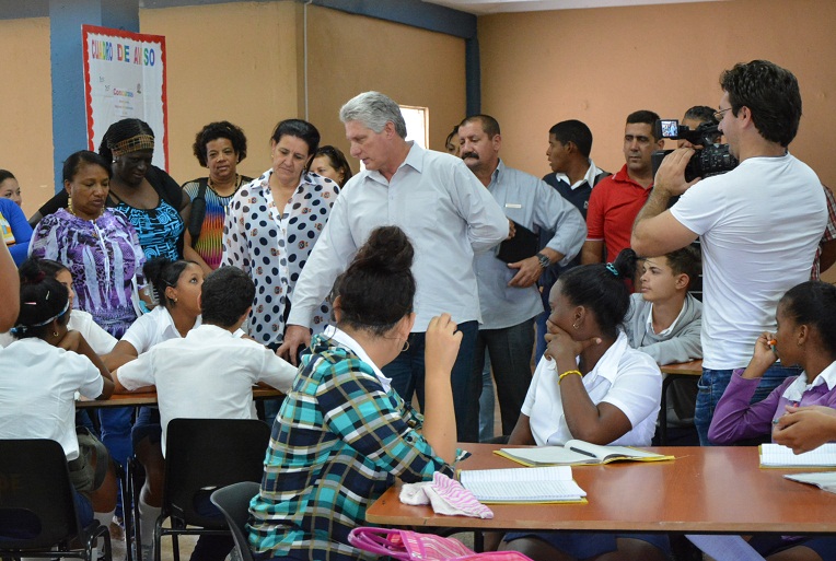
[[[378,226],[400,226],[415,246],[417,282],[413,332],[404,351],[383,369],[405,401],[423,404],[425,331],[448,312],[462,331],[452,373],[457,439],[478,442],[480,381],[473,352],[481,320],[474,254],[509,235],[509,221],[462,160],[406,141],[398,105],[378,92],[350,100],[339,112],[351,155],[365,171],[353,176],[334,203],[330,218],[291,295],[280,354],[295,359],[309,344],[313,311],[330,291],[357,249]]]

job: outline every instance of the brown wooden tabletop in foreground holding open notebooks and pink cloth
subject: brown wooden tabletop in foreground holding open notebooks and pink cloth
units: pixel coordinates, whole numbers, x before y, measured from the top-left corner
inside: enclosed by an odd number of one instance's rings
[[[462,469],[520,467],[491,454],[495,444],[464,444]],[[649,448],[672,461],[572,467],[589,504],[490,505],[492,519],[436,515],[408,506],[399,483],[367,511],[374,525],[461,529],[619,530],[689,534],[836,534],[836,494],[783,479],[790,469],[759,469],[756,447]],[[803,471],[803,470],[802,470]]]

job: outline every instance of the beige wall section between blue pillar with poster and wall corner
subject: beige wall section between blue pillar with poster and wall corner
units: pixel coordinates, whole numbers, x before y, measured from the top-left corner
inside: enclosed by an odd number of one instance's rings
[[[169,172],[177,182],[206,175],[191,144],[214,120],[246,132],[242,174],[257,177],[269,167],[272,127],[299,116],[297,9],[242,2],[140,11],[141,32],[165,36]]]

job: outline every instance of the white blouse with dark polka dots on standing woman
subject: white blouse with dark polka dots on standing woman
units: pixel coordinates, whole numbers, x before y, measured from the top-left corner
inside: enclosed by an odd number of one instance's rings
[[[242,186],[229,204],[223,229],[223,265],[249,273],[256,285],[249,335],[264,344],[280,343],[293,285],[328,220],[339,187],[330,179],[305,174],[293,196],[281,208],[276,223],[268,206],[272,170]],[[323,302],[313,317],[314,332],[328,322],[330,308]]]

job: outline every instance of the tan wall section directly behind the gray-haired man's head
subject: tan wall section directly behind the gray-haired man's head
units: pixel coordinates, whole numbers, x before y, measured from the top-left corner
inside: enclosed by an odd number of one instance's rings
[[[310,7],[309,115],[323,137],[346,152],[339,108],[368,90],[402,105],[429,107],[430,147],[465,114],[464,39],[396,23]],[[357,172],[357,160],[348,157]]]

